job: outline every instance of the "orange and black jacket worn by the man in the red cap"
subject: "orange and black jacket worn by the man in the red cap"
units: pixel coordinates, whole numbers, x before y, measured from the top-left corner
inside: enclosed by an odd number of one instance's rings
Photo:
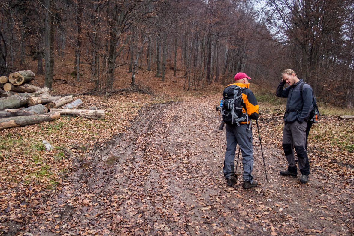
[[[242,83],[235,83],[236,85],[242,87],[245,87],[247,89],[242,90],[242,103],[241,106],[242,108],[242,113],[247,114],[251,119],[258,119],[258,104],[257,104],[257,100],[255,95],[252,93],[252,91],[250,90],[250,84],[242,84]],[[227,87],[229,87],[230,85],[233,84],[229,84],[227,85]],[[246,108],[246,110],[245,110]],[[246,121],[244,122],[240,122],[240,124],[246,124]]]

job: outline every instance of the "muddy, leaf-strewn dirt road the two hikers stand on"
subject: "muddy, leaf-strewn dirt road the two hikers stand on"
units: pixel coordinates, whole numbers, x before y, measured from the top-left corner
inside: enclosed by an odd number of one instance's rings
[[[283,153],[253,126],[256,188],[228,187],[222,167],[225,130],[212,95],[190,102],[156,104],[141,111],[130,132],[89,157],[59,186],[23,235],[352,235],[352,186],[308,184],[279,176]],[[260,124],[261,132],[265,129]],[[271,127],[271,126],[269,126]],[[268,127],[268,128],[269,128]],[[238,150],[238,149],[237,149]],[[236,153],[237,159],[237,153]],[[235,160],[236,164],[236,160]],[[319,168],[319,167],[317,167]],[[40,210],[43,210],[40,212]],[[11,229],[8,228],[8,235]],[[12,231],[13,232],[13,231]]]

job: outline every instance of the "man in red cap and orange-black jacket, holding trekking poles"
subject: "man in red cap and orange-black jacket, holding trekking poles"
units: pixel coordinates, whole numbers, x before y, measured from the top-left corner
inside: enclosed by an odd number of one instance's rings
[[[252,188],[258,185],[257,181],[253,179],[251,174],[253,169],[253,144],[252,144],[252,130],[251,119],[258,119],[258,104],[255,95],[249,89],[249,80],[245,73],[237,73],[235,75],[234,84],[229,84],[225,90],[227,91],[229,86],[237,85],[242,88],[242,114],[243,117],[236,120],[234,124],[226,125],[226,153],[224,160],[224,176],[227,179],[227,185],[232,186],[236,182],[235,178],[235,154],[236,145],[242,152],[242,165],[243,165],[243,188]],[[234,86],[235,88],[238,88]],[[230,87],[232,88],[232,87]],[[227,94],[226,94],[227,95]],[[241,115],[242,116],[242,115]]]

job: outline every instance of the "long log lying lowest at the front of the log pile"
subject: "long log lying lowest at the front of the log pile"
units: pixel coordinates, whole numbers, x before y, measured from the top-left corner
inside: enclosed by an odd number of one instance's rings
[[[23,127],[27,125],[34,125],[42,123],[45,121],[52,121],[54,119],[59,119],[59,112],[50,112],[34,116],[18,116],[12,118],[0,119],[0,130],[13,128],[13,127]]]

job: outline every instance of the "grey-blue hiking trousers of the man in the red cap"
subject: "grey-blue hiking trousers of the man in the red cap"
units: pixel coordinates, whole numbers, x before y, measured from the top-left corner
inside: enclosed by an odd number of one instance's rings
[[[224,160],[224,176],[226,179],[231,179],[234,174],[235,168],[235,154],[236,145],[239,144],[242,152],[242,165],[243,165],[243,180],[253,182],[251,175],[253,169],[253,144],[252,144],[252,130],[246,131],[249,125],[240,124],[226,125],[226,153]]]

